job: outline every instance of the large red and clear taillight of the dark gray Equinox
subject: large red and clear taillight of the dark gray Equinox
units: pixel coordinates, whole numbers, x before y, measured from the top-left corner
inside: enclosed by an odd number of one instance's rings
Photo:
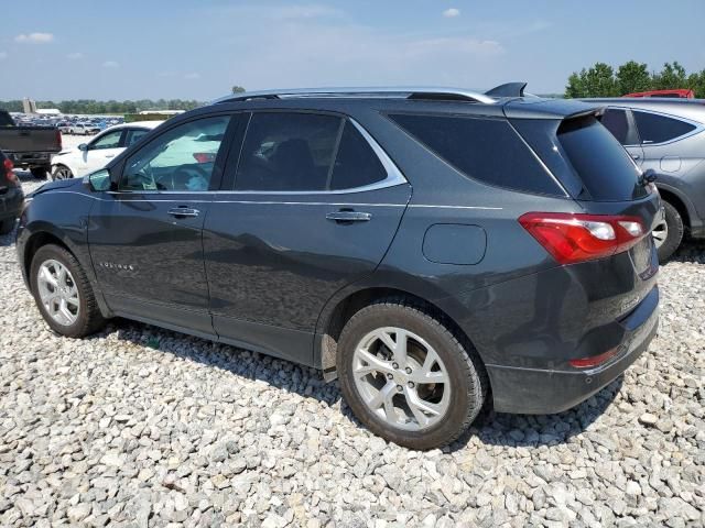
[[[647,234],[639,217],[528,212],[519,218],[519,223],[560,264],[621,253]]]

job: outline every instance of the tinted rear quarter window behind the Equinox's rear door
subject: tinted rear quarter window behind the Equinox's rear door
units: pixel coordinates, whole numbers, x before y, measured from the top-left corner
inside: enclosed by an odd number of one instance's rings
[[[454,116],[389,117],[470,178],[528,193],[564,195],[507,121]]]

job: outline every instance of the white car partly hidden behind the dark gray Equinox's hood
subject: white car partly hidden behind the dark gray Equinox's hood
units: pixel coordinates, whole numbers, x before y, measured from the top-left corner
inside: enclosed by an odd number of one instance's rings
[[[119,124],[96,135],[88,143],[59,152],[52,160],[52,178],[83,177],[105,167],[115,156],[137,143],[162,121],[139,121]]]

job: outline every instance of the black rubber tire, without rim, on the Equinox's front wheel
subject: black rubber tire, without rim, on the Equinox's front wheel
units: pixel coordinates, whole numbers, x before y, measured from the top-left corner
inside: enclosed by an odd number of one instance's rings
[[[70,326],[61,324],[52,319],[41,301],[37,287],[37,274],[42,263],[48,260],[55,260],[63,264],[70,272],[78,289],[78,317]],[[88,280],[83,267],[70,252],[54,244],[43,245],[34,254],[32,265],[30,267],[32,295],[34,296],[34,300],[42,314],[42,317],[52,330],[67,338],[83,338],[100,330],[105,326],[106,321],[100,314],[100,308],[98,308],[98,302],[96,301],[93,288],[90,287],[90,282]]]

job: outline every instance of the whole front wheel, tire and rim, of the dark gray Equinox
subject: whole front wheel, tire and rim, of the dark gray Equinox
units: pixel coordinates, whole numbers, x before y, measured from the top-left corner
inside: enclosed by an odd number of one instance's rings
[[[83,338],[105,323],[88,277],[64,248],[40,248],[32,258],[30,280],[36,306],[55,332]]]

